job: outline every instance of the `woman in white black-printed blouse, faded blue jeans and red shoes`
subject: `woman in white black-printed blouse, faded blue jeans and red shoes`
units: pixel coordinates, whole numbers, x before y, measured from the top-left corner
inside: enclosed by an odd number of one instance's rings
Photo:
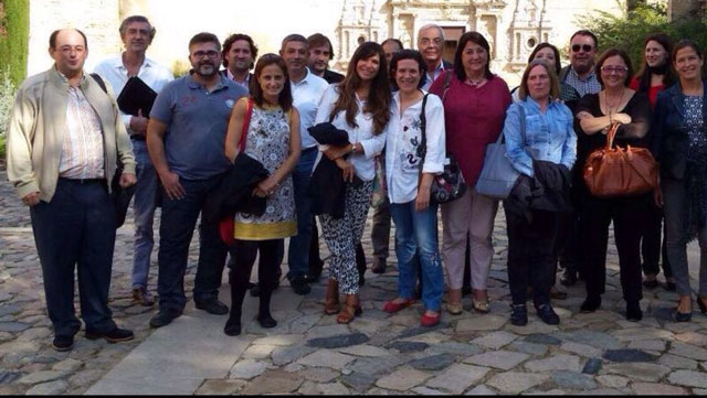
[[[434,326],[440,322],[444,273],[436,237],[437,204],[430,202],[430,187],[444,170],[444,107],[437,96],[420,89],[424,73],[424,61],[414,50],[395,53],[390,63],[398,90],[388,126],[386,180],[395,223],[399,293],[383,311],[398,312],[414,302],[418,267],[413,258],[419,251],[425,308],[420,323]]]

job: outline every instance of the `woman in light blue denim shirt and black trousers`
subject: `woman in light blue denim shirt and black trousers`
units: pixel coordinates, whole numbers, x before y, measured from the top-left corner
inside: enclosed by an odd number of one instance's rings
[[[523,75],[519,101],[508,108],[503,132],[507,157],[520,172],[520,179],[527,179],[530,191],[542,184],[545,192],[556,190],[560,196],[567,196],[570,169],[577,157],[577,136],[572,128],[572,112],[555,100],[559,90],[555,71],[542,60],[531,62]],[[540,169],[544,175],[539,175]],[[557,175],[563,183],[553,184],[559,186],[551,189],[546,185],[551,184],[549,179],[546,180],[548,175]],[[538,201],[542,198],[538,197]],[[538,316],[545,323],[558,324],[560,319],[550,305],[550,288],[555,280],[553,251],[560,208],[520,202],[513,194],[504,202],[508,282],[513,298],[510,322],[519,326],[528,323],[526,291],[530,279]],[[564,202],[569,205],[569,201]]]

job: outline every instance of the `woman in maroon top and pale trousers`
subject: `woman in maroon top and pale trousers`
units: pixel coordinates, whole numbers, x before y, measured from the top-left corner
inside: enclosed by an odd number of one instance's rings
[[[496,141],[511,103],[508,85],[490,73],[490,47],[477,32],[466,32],[454,54],[454,69],[440,75],[430,87],[444,104],[446,149],[456,158],[468,189],[466,194],[442,205],[450,297],[447,310],[462,312],[462,279],[466,236],[471,238],[472,290],[474,309],[490,309],[486,279],[494,256],[490,235],[498,202],[476,192],[476,180],[484,164],[486,146]]]

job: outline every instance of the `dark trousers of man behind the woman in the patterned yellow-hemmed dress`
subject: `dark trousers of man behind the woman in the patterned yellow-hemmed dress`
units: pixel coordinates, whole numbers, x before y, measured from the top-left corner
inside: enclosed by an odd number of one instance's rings
[[[299,162],[292,173],[295,185],[295,206],[297,207],[297,236],[289,238],[287,279],[304,278],[309,269],[309,244],[312,243],[312,198],[309,197],[309,180],[317,159],[317,148],[302,151]]]

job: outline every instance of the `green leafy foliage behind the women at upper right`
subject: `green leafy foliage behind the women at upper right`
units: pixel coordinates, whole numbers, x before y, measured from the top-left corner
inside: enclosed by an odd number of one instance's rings
[[[616,0],[622,10],[626,6]],[[707,25],[704,20],[678,20],[669,22],[664,4],[646,4],[636,2],[633,9],[614,15],[605,11],[593,11],[591,14],[578,18],[580,26],[588,29],[599,39],[599,53],[606,49],[625,50],[631,56],[634,69],[639,69],[643,62],[643,42],[653,33],[665,33],[674,42],[690,39],[707,51]],[[707,72],[707,65],[705,72]]]

